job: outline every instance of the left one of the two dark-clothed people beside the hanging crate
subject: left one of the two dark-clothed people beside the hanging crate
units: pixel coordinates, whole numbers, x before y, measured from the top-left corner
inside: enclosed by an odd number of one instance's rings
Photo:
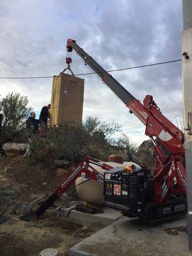
[[[35,156],[32,145],[33,145],[33,140],[36,134],[38,133],[38,125],[40,124],[40,120],[35,119],[35,117],[36,117],[35,112],[31,112],[30,116],[28,117],[28,120],[26,121],[29,145],[23,157]]]

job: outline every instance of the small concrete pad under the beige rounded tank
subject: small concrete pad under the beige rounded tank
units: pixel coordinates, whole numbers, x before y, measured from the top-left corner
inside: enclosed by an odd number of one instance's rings
[[[122,214],[115,211],[109,207],[102,207],[103,213],[98,214],[88,214],[84,212],[76,211],[75,205],[71,207],[65,207],[63,209],[57,210],[59,216],[66,216],[77,220],[89,221],[94,223],[101,223],[102,225],[108,226],[114,221],[122,218]]]

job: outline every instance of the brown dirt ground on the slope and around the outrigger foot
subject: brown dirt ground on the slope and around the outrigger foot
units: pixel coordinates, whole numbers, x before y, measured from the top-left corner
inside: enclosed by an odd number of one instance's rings
[[[49,195],[62,180],[56,170],[33,159],[21,156],[0,158],[0,191],[13,191],[14,198],[0,196],[0,211],[7,206],[4,216],[10,219],[0,225],[0,256],[36,256],[45,248],[58,249],[59,255],[67,255],[68,248],[102,228],[102,225],[56,216],[54,207],[45,212],[45,220],[27,222],[13,214],[18,201],[32,202]],[[71,193],[76,193],[73,190]],[[70,200],[70,199],[69,199]],[[59,200],[64,205],[68,200]]]

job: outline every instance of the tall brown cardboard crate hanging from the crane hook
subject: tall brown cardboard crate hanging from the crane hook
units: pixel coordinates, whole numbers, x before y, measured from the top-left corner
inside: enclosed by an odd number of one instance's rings
[[[84,79],[61,72],[52,80],[51,126],[82,124]]]

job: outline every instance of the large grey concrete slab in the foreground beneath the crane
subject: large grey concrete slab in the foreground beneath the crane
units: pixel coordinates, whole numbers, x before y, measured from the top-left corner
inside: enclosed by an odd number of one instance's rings
[[[68,255],[191,256],[186,232],[172,236],[164,231],[164,228],[186,224],[186,217],[153,225],[123,217],[70,248]]]

